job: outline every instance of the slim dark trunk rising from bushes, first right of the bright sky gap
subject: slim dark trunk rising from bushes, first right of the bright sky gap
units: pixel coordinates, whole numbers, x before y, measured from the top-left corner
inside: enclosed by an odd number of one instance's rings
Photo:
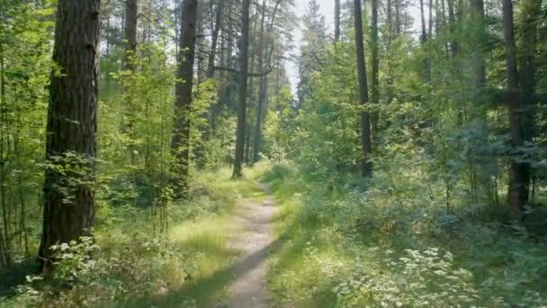
[[[368,85],[366,80],[366,61],[364,59],[363,43],[363,18],[361,0],[354,0],[354,27],[355,50],[357,57],[357,77],[359,79],[359,103],[363,106],[369,102]],[[372,142],[370,113],[361,113],[361,146],[363,149],[363,164],[361,174],[363,177],[372,176]]]

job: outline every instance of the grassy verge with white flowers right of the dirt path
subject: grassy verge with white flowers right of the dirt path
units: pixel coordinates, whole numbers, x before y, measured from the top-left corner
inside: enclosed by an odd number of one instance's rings
[[[445,213],[415,175],[378,171],[364,190],[305,180],[291,166],[266,174],[281,205],[283,242],[268,266],[275,306],[547,304],[543,244]]]

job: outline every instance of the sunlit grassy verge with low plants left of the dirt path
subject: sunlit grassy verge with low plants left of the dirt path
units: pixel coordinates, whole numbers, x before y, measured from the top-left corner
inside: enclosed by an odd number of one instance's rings
[[[193,200],[171,204],[167,231],[157,231],[149,209],[102,208],[94,242],[61,247],[55,277],[40,276],[0,298],[0,306],[209,307],[224,303],[239,251],[230,213],[246,199],[261,198],[256,177],[268,168],[247,169],[230,179],[228,168],[195,178]],[[94,251],[94,258],[85,253]]]

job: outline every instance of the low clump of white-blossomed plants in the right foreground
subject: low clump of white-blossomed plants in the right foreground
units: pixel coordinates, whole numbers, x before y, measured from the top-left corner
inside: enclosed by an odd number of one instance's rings
[[[391,255],[388,251],[384,259],[387,272],[356,258],[352,275],[333,289],[338,306],[469,306],[476,301],[471,272],[455,266],[450,252],[406,249],[403,257]]]

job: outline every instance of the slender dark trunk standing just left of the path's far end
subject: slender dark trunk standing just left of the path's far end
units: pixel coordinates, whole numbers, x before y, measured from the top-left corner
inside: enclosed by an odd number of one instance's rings
[[[249,45],[250,0],[243,0],[241,8],[241,38],[239,41],[239,88],[238,88],[238,130],[236,131],[236,154],[232,177],[243,175],[245,132],[247,125],[247,77]]]

